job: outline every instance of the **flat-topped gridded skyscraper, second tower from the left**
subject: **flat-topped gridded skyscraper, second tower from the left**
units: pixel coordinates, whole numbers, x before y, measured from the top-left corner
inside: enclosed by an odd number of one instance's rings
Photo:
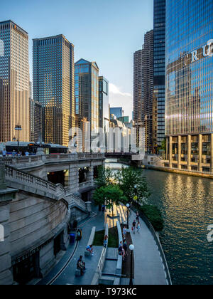
[[[42,105],[43,141],[68,145],[75,126],[74,46],[62,35],[33,40],[33,99]]]

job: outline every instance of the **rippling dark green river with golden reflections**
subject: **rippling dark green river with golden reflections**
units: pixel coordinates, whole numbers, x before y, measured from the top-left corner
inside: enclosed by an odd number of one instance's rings
[[[122,164],[107,163],[118,169]],[[141,170],[151,190],[149,202],[163,213],[160,240],[174,285],[213,284],[213,180]]]

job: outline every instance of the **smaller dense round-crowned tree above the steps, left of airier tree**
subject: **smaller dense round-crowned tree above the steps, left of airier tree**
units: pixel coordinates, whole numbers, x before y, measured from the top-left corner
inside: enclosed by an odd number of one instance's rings
[[[114,204],[126,204],[128,199],[124,196],[124,192],[118,186],[108,185],[95,190],[93,194],[94,203],[97,205],[105,205],[107,209],[113,210]]]

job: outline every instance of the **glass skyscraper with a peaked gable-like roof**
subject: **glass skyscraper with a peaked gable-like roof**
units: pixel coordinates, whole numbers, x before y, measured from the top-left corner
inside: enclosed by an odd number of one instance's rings
[[[86,118],[91,132],[98,130],[99,67],[84,59],[75,63],[75,114],[77,124]]]

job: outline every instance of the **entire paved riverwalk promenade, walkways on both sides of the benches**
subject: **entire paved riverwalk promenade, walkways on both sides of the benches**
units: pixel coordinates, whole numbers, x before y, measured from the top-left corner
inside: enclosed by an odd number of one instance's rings
[[[126,221],[126,207],[119,206],[116,208],[120,215],[120,222]],[[90,285],[94,272],[99,263],[99,258],[102,253],[102,246],[94,246],[94,256],[84,257],[84,250],[89,241],[89,236],[92,231],[92,227],[96,226],[96,231],[102,231],[104,229],[104,223],[107,221],[109,227],[116,226],[117,219],[109,219],[107,212],[95,211],[97,215],[82,221],[78,226],[82,229],[82,240],[76,244],[70,244],[65,255],[60,262],[53,268],[52,271],[38,282],[39,285]],[[136,214],[131,211],[129,218],[129,224],[133,219],[136,219]],[[158,246],[149,231],[146,224],[141,221],[141,232],[133,234],[131,231],[131,238],[133,241],[134,249],[134,285],[167,285],[165,278],[165,271],[163,268],[163,261],[160,258]],[[83,260],[86,263],[86,272],[84,276],[76,277],[75,269],[77,265],[77,259],[83,256]],[[130,270],[129,270],[130,271]],[[126,280],[122,279],[121,283],[126,284]]]

